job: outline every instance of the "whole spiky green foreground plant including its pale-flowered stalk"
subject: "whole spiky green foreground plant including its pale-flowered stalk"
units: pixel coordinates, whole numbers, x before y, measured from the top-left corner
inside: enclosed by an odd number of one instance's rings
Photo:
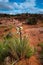
[[[34,47],[30,46],[26,36],[22,37],[21,27],[17,27],[17,32],[19,33],[19,37],[10,37],[7,35],[5,43],[8,43],[9,53],[18,62],[20,59],[30,58],[34,54]]]

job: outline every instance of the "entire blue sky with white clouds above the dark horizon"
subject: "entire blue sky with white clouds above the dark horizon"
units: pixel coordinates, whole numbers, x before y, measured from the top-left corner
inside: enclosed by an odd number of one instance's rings
[[[0,13],[43,13],[43,0],[0,0]]]

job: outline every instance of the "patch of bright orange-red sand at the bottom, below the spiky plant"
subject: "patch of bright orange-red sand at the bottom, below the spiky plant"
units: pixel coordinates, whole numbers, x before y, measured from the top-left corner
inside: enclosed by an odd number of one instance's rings
[[[36,56],[32,56],[30,59],[22,59],[15,65],[41,65],[40,61],[37,60]]]

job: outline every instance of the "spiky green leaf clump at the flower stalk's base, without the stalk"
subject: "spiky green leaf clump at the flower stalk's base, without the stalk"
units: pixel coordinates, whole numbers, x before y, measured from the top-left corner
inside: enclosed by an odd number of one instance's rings
[[[30,46],[28,43],[28,40],[24,37],[23,39],[20,38],[13,38],[10,40],[9,43],[9,49],[10,53],[14,56],[16,59],[21,58],[29,58],[34,54],[34,48]]]

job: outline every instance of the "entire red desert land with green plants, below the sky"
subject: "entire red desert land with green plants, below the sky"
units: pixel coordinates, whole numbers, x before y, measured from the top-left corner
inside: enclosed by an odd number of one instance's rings
[[[0,15],[0,65],[43,65],[43,15]]]

